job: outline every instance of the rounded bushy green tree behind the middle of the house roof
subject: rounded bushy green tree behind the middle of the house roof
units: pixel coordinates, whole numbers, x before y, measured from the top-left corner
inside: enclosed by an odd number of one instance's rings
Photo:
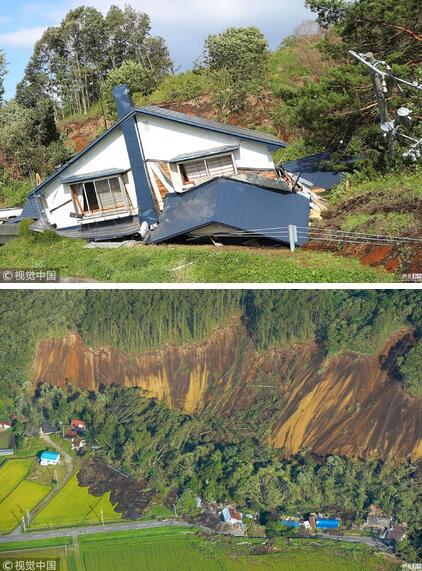
[[[211,96],[222,117],[241,111],[249,95],[262,96],[268,53],[265,37],[253,26],[208,36],[203,59]]]

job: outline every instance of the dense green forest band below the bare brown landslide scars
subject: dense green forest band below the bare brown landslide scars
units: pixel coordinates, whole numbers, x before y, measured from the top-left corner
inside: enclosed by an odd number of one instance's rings
[[[420,476],[412,464],[303,452],[283,459],[267,444],[262,415],[249,411],[221,417],[207,410],[194,416],[172,411],[145,398],[142,391],[108,387],[98,393],[41,385],[28,396],[23,412],[34,422],[83,418],[97,458],[146,480],[163,500],[177,494],[179,513],[195,515],[195,498],[231,501],[243,511],[258,511],[268,534],[281,533],[280,514],[321,511],[340,516],[342,525],[364,521],[376,503],[408,522],[409,538],[401,554],[417,560],[422,526]],[[23,438],[23,425],[14,427]],[[278,514],[278,516],[277,516]],[[419,546],[420,549],[420,546]]]

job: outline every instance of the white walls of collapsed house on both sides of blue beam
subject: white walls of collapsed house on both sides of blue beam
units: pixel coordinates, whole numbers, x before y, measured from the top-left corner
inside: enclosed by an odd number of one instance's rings
[[[237,169],[274,169],[271,152],[265,143],[242,140],[238,136],[139,113],[137,115],[137,125],[146,160],[169,162],[174,157],[185,153],[207,151],[219,146],[239,145],[239,149],[233,151]],[[129,156],[122,129],[118,128],[96,144],[74,164],[66,168],[44,188],[43,197],[46,201],[46,214],[49,222],[55,224],[58,229],[63,229],[89,223],[94,219],[104,220],[110,218],[110,216],[112,218],[125,216],[124,213],[115,214],[114,216],[110,213],[107,216],[86,217],[84,220],[70,216],[71,213],[75,212],[75,206],[69,186],[63,185],[61,181],[71,176],[108,169],[129,171],[129,184],[126,185],[126,190],[133,206],[131,213],[136,214],[137,198],[132,172],[130,171]],[[183,181],[176,165],[171,165],[171,178],[175,190],[181,191],[183,189]],[[58,206],[61,206],[61,208],[54,210]]]

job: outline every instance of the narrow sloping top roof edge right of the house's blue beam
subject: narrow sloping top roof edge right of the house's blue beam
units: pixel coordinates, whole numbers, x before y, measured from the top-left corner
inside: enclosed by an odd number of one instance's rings
[[[267,133],[260,133],[259,131],[254,131],[252,129],[236,127],[235,125],[220,123],[218,121],[211,121],[210,119],[204,119],[203,117],[187,115],[186,113],[179,113],[178,111],[164,109],[163,107],[157,107],[155,105],[137,107],[136,111],[143,115],[161,117],[162,119],[176,121],[177,123],[183,123],[184,125],[200,127],[201,129],[208,129],[209,131],[216,131],[217,133],[225,133],[226,135],[233,135],[234,137],[256,141],[257,143],[265,143],[272,150],[283,149],[287,146],[286,143],[277,137],[274,137],[274,135],[268,135]]]

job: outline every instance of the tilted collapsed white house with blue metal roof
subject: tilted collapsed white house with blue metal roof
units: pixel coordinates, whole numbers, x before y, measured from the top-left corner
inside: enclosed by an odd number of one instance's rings
[[[155,244],[176,238],[264,237],[307,241],[319,197],[294,180],[272,152],[276,137],[169,111],[135,108],[115,88],[119,120],[28,196],[15,221],[34,230],[109,240],[140,235]]]

